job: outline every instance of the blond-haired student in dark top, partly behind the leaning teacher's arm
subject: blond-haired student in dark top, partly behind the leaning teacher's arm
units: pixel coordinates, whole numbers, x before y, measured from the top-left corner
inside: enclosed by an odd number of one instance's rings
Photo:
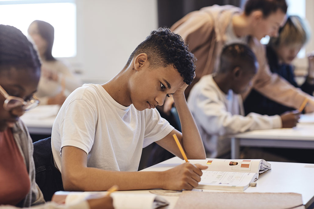
[[[286,79],[295,87],[309,95],[314,92],[314,56],[308,56],[308,75],[304,83],[299,86],[295,81],[294,66],[292,61],[295,59],[300,49],[310,39],[310,29],[305,20],[298,16],[289,16],[286,23],[279,29],[278,37],[270,38],[266,46],[266,55],[268,65],[272,73]],[[287,107],[277,103],[259,93],[252,90],[244,101],[244,109],[246,114],[249,112],[257,112],[260,114],[275,115],[295,108]]]

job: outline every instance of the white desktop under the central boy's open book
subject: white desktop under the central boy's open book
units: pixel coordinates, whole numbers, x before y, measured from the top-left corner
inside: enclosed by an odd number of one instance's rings
[[[174,157],[143,171],[164,171],[180,165],[182,160]],[[249,187],[244,192],[294,192],[302,195],[306,208],[314,205],[314,164],[270,162],[272,170],[259,175],[256,187]],[[226,192],[223,190],[203,190],[210,192]],[[136,191],[143,192],[143,191]],[[229,192],[229,191],[228,191]],[[166,208],[173,208],[179,196],[163,196],[170,202]],[[311,206],[311,207],[310,207]]]

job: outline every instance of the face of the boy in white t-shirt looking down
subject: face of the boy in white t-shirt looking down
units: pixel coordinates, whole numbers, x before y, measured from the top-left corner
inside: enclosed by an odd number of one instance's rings
[[[142,67],[135,72],[130,82],[131,100],[139,111],[163,105],[166,96],[174,94],[184,84],[173,65],[153,69],[149,68],[149,64]]]

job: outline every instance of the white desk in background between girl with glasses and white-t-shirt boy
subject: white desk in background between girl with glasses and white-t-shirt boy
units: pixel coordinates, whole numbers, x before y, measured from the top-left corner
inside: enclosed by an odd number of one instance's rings
[[[40,105],[21,116],[30,134],[47,134],[52,131],[60,107],[58,105]]]

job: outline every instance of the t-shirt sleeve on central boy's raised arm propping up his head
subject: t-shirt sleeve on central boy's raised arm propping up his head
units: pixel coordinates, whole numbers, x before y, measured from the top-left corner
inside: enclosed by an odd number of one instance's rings
[[[143,148],[167,136],[174,127],[162,118],[156,109],[146,109],[145,111],[145,135]]]

